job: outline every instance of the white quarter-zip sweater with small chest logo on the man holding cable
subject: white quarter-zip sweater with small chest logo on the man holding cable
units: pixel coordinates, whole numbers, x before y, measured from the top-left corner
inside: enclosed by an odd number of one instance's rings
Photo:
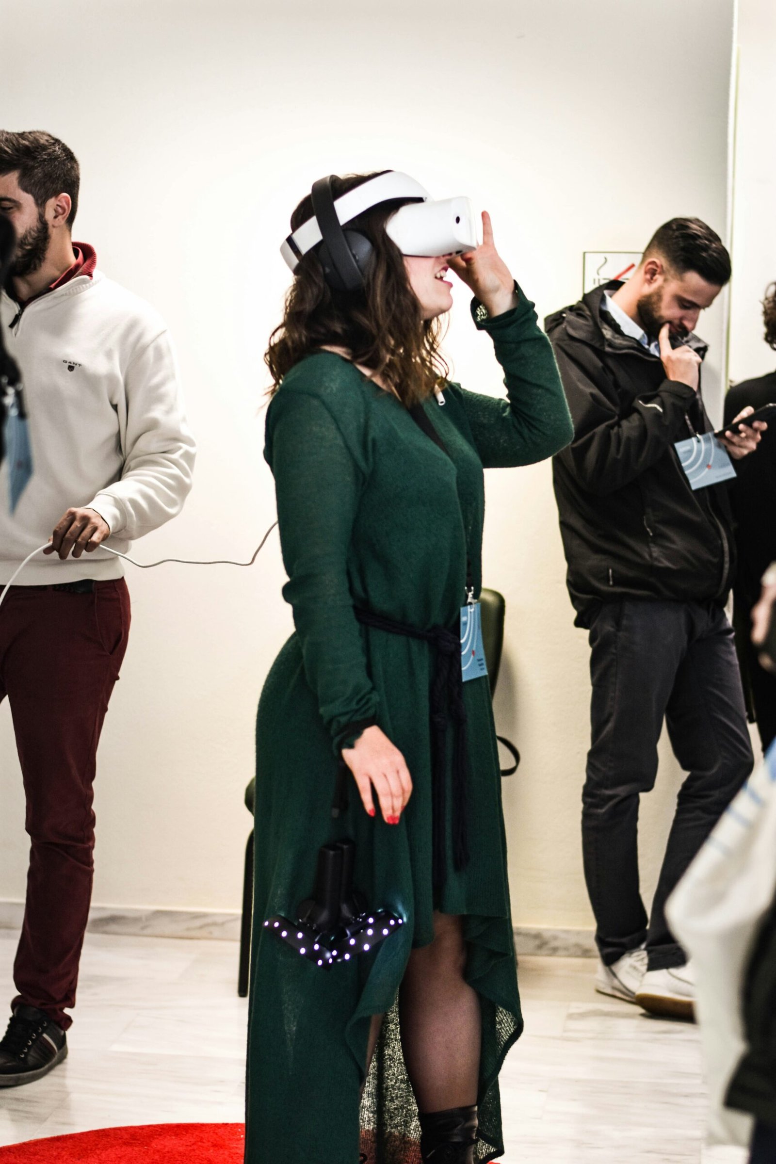
[[[70,506],[97,510],[111,527],[107,544],[127,553],[179,513],[191,489],[195,448],[164,321],[95,270],[21,313],[3,291],[0,326],[21,370],[33,454],[13,514],[0,467],[0,585]],[[121,559],[101,548],[64,562],[37,554],[16,584],[122,574]]]

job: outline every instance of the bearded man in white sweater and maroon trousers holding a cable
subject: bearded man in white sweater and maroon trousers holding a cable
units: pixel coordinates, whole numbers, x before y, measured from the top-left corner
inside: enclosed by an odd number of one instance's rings
[[[119,558],[180,512],[194,442],[163,320],[73,243],[79,168],[41,132],[0,130],[0,212],[17,239],[0,326],[24,384],[33,476],[12,512],[0,468],[0,701],[8,696],[27,796],[30,865],[0,1041],[0,1086],[67,1053],[65,1014],[92,889],[97,745],[127,647]]]

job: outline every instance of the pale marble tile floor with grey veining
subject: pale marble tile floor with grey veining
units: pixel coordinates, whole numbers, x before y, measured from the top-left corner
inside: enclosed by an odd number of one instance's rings
[[[15,941],[0,930],[8,998]],[[593,970],[586,958],[520,959],[526,1034],[501,1073],[504,1164],[740,1164],[745,1154],[702,1147],[696,1029],[596,994]],[[0,1091],[0,1144],[242,1120],[236,971],[234,942],[90,934],[70,1056],[38,1083]]]

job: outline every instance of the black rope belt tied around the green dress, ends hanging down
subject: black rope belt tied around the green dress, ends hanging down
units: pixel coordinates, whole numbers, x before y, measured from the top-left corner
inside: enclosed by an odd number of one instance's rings
[[[436,661],[430,690],[432,729],[432,860],[434,890],[441,890],[447,876],[444,844],[447,731],[454,725],[453,746],[453,864],[456,871],[469,864],[467,837],[467,781],[469,775],[469,752],[467,748],[467,709],[463,703],[463,677],[461,674],[461,638],[446,626],[432,626],[419,631],[414,626],[398,623],[370,610],[356,609],[356,618],[364,626],[373,626],[389,634],[403,634],[408,639],[420,639],[434,647]]]

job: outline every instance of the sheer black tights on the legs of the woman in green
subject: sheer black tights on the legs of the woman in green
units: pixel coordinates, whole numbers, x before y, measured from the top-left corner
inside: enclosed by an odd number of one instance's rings
[[[412,951],[399,991],[404,1062],[422,1113],[477,1102],[482,1021],[465,961],[461,918],[435,913],[434,941]],[[372,1020],[368,1063],[380,1022]]]

